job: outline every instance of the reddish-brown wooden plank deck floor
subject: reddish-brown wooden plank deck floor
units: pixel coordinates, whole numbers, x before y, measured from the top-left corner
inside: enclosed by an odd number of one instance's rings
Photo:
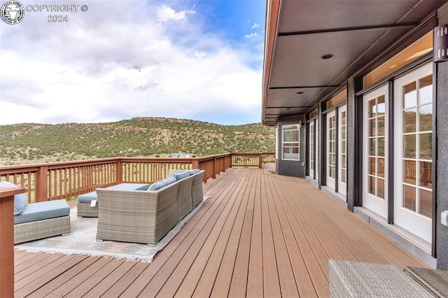
[[[429,268],[304,179],[229,169],[151,264],[15,251],[15,297],[328,297],[328,259]]]

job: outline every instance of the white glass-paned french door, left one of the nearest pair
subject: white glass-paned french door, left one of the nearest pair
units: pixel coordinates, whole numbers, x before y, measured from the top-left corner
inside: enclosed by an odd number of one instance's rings
[[[387,218],[388,86],[363,96],[363,206]]]

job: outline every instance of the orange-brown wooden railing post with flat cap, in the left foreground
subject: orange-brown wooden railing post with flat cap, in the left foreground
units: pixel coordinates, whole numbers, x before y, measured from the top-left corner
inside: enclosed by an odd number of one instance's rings
[[[0,298],[14,297],[14,195],[23,192],[0,188]]]

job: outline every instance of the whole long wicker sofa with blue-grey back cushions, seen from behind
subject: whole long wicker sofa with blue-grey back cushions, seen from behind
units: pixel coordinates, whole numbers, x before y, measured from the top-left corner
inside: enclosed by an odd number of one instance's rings
[[[202,180],[200,191],[193,187],[201,173],[175,173],[148,190],[98,188],[97,240],[157,244],[193,210],[193,194],[202,196]]]

